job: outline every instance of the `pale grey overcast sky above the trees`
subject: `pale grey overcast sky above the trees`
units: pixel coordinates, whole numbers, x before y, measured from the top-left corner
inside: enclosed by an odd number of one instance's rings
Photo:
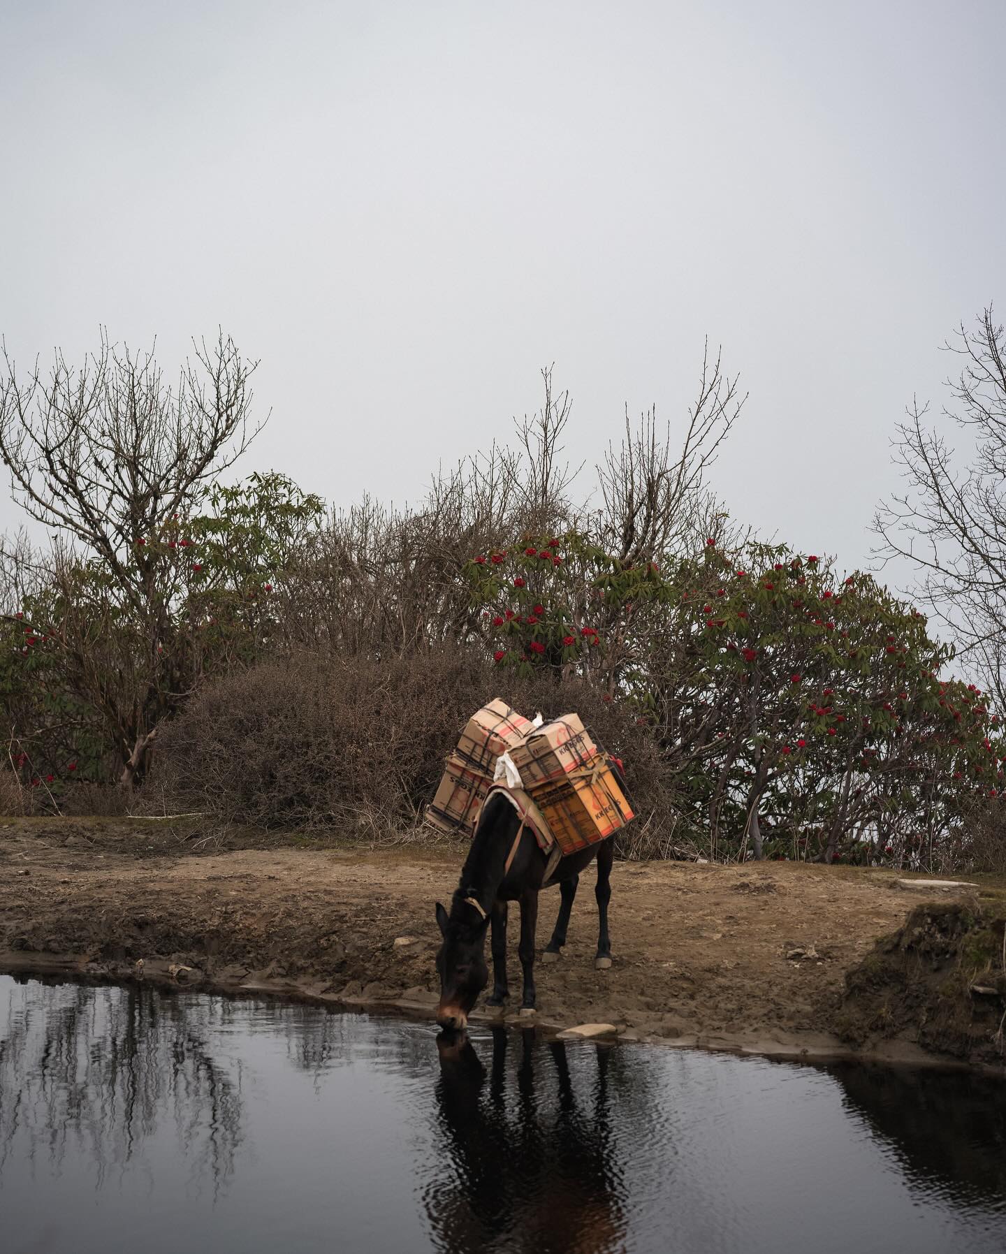
[[[893,426],[1006,311],[1003,0],[0,0],[0,332],[261,359],[242,469],[415,499],[539,367],[597,458],[750,391],[731,513],[863,562]],[[18,513],[6,490],[0,528]]]

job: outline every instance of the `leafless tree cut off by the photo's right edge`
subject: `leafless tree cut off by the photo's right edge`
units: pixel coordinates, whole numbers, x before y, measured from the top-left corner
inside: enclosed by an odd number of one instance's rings
[[[947,438],[913,401],[894,458],[907,487],[882,502],[874,529],[884,559],[909,559],[922,596],[951,628],[985,686],[1006,700],[1006,337],[990,305],[978,330],[961,324],[946,351],[962,359],[947,380],[943,416],[972,444],[961,466]]]

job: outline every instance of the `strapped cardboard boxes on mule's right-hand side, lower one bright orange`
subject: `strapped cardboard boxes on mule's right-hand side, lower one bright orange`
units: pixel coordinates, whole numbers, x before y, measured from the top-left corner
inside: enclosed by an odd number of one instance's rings
[[[532,730],[511,757],[563,854],[605,840],[633,816],[611,761],[578,715]]]

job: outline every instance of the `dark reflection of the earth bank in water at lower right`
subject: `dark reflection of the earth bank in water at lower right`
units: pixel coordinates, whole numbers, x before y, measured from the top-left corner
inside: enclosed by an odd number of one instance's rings
[[[972,1201],[1006,1198],[1006,1086],[967,1072],[844,1062],[844,1105],[897,1151],[906,1179]]]

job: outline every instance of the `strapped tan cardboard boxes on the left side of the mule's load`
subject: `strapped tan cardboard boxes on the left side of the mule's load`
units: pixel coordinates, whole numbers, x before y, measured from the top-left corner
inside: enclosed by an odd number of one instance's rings
[[[531,721],[499,697],[483,706],[468,720],[458,747],[448,756],[426,819],[448,834],[470,835],[499,756],[513,752],[532,730]]]

